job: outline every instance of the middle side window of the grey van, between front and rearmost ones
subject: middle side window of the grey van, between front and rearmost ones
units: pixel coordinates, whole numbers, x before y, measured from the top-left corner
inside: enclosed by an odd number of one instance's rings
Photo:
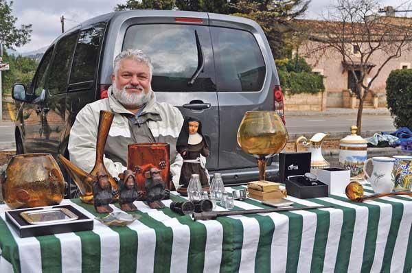
[[[50,95],[66,92],[71,58],[73,57],[77,38],[78,32],[74,32],[58,41],[56,54],[54,54],[54,60],[50,67],[49,82],[47,83]]]

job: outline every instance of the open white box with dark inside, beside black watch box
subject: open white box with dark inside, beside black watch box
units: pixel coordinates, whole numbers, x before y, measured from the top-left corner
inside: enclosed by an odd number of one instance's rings
[[[346,186],[350,182],[350,170],[340,168],[318,169],[317,178],[328,185],[328,193],[334,195],[345,194]]]

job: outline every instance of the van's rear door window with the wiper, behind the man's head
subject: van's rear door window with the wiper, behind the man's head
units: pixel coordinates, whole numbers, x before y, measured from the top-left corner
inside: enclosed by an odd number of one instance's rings
[[[195,30],[203,51],[203,60],[198,56]],[[205,26],[132,25],[126,31],[125,49],[141,49],[150,56],[154,91],[216,91],[210,34]],[[188,84],[199,62],[205,66],[194,84]]]

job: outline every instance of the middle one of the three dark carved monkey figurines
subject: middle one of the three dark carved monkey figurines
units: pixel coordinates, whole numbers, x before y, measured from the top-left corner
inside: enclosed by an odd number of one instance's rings
[[[122,211],[136,211],[137,207],[133,204],[133,202],[137,199],[141,199],[142,194],[137,191],[135,174],[133,171],[128,169],[124,171],[122,175],[119,175],[119,177],[122,179],[119,198]]]

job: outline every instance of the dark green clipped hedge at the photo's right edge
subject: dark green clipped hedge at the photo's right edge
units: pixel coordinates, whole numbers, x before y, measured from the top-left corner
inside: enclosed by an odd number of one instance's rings
[[[412,69],[393,70],[386,86],[387,107],[394,125],[412,129]]]

